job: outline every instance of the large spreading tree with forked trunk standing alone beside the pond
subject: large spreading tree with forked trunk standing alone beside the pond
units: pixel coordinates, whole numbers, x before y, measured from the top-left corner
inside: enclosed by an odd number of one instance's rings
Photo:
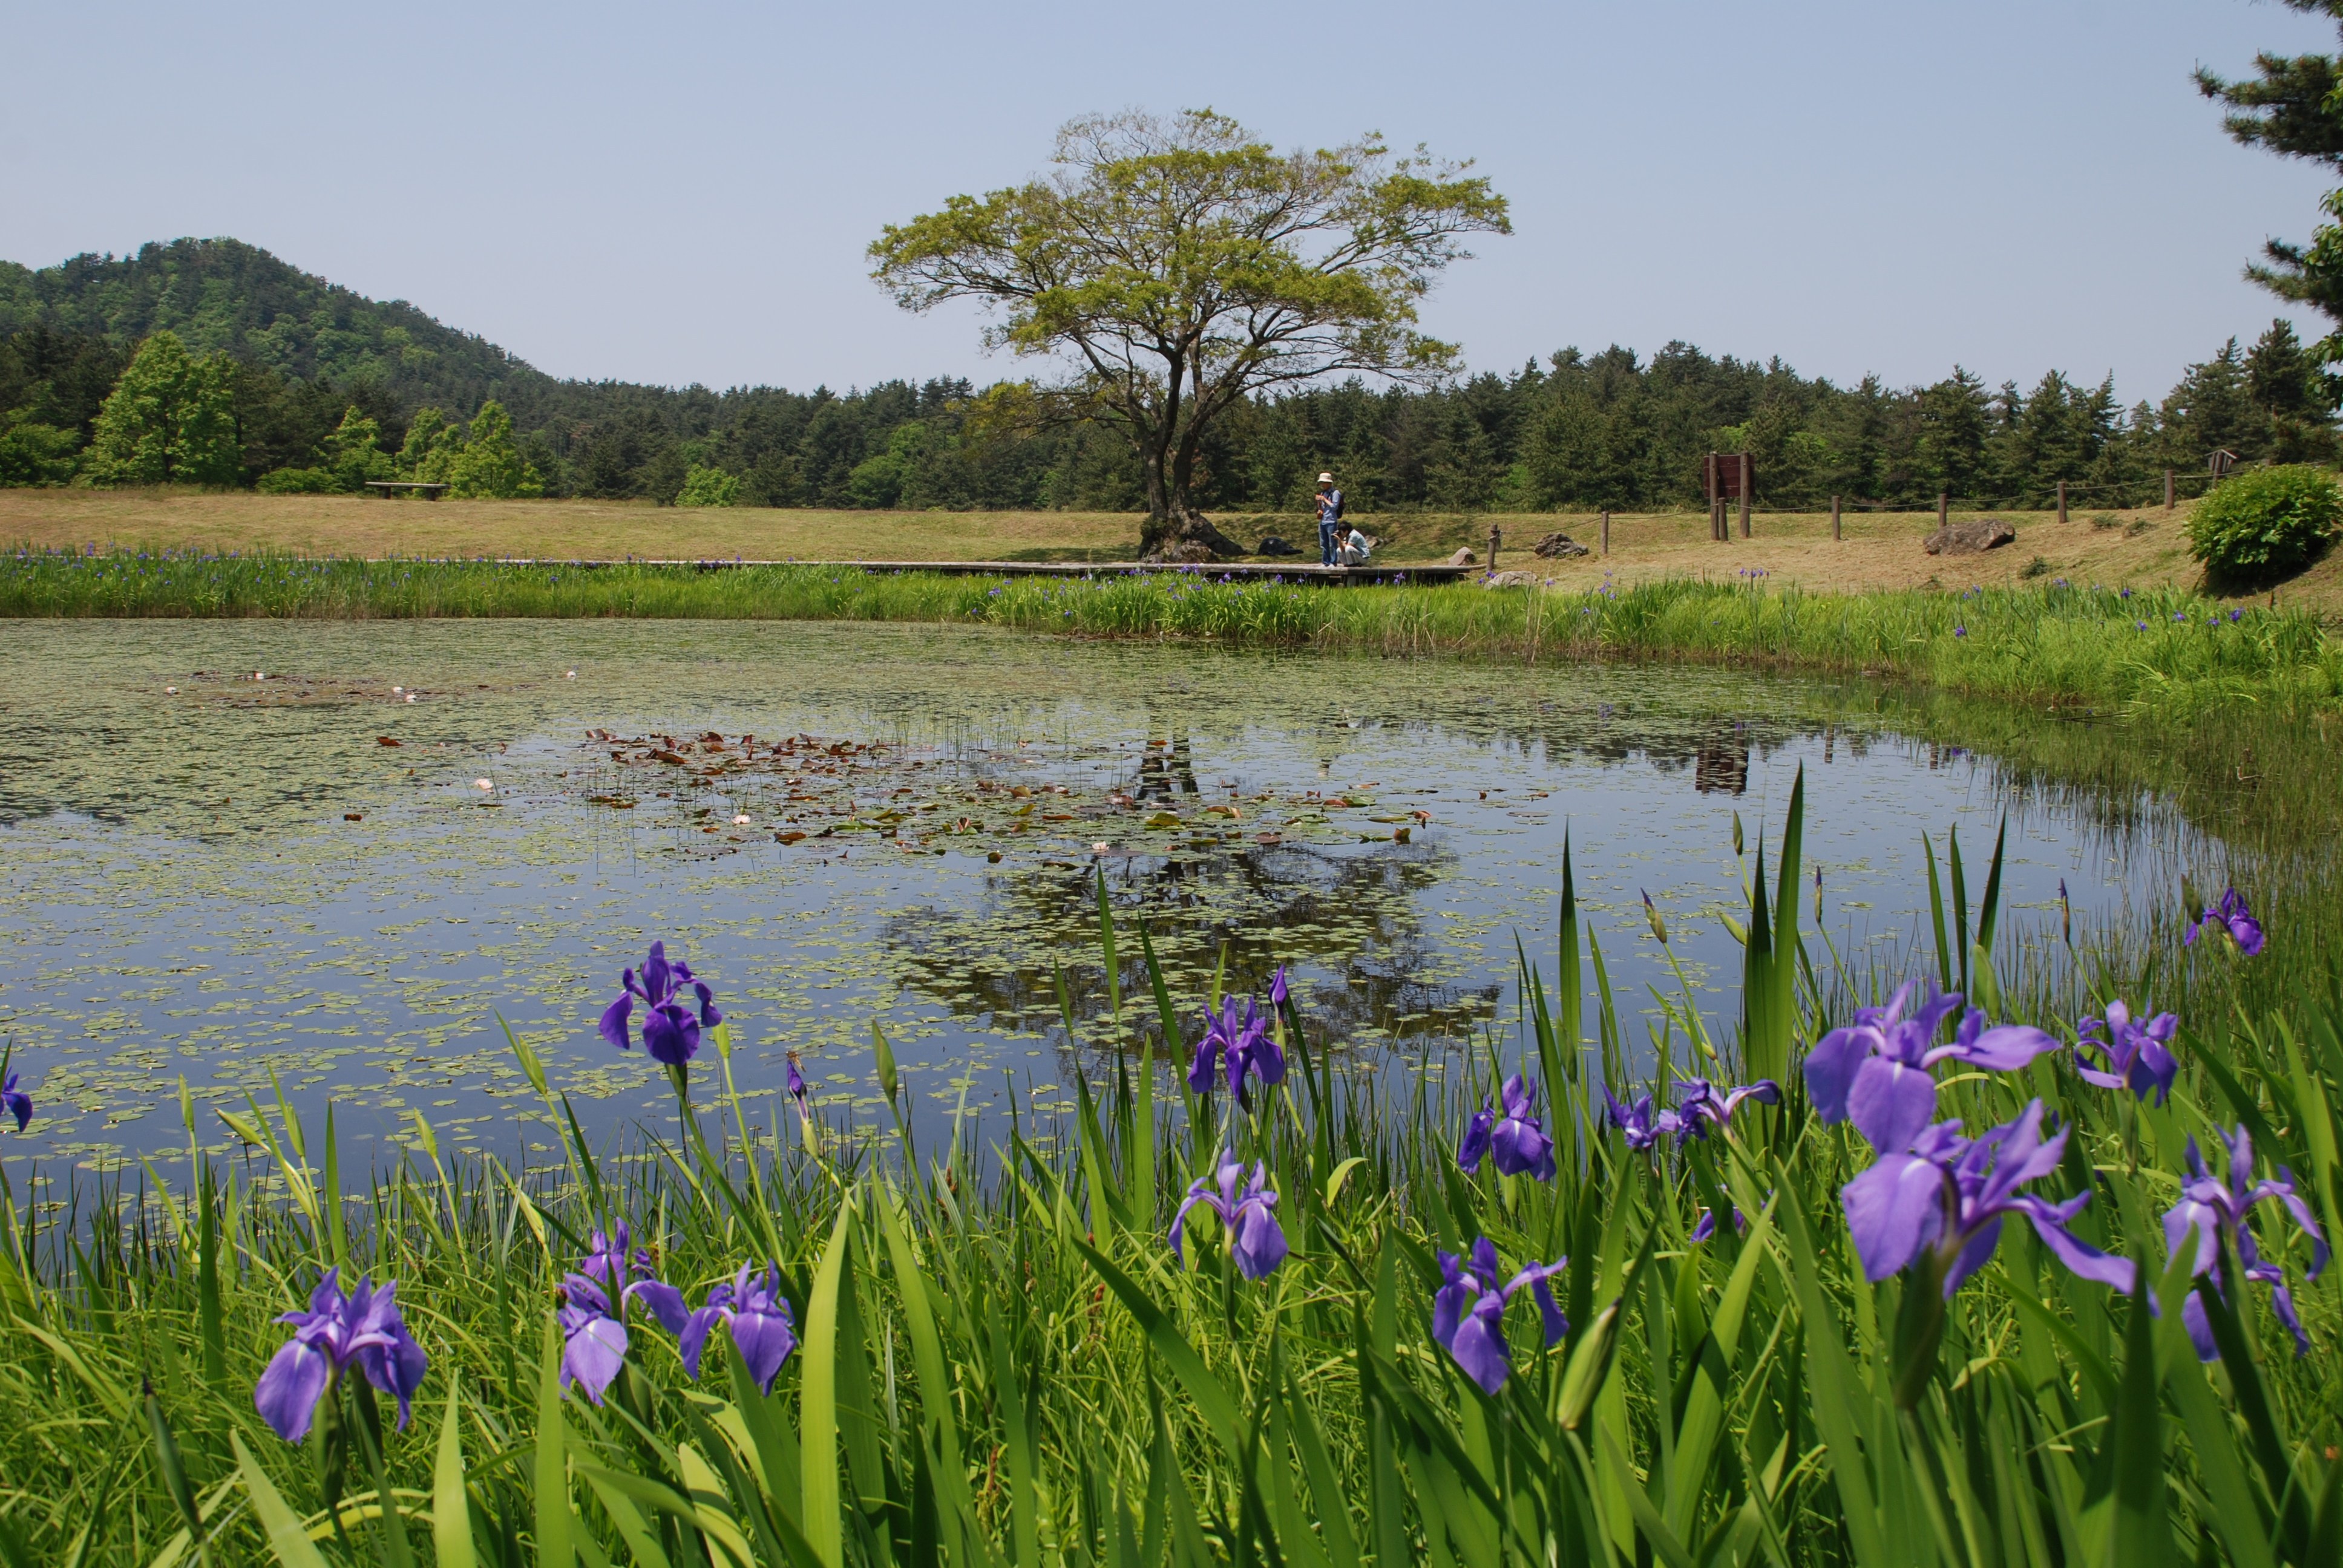
[[[977,300],[993,347],[1054,356],[1026,410],[1113,424],[1146,476],[1141,546],[1232,551],[1197,506],[1209,427],[1246,396],[1364,370],[1436,380],[1455,345],[1418,300],[1509,232],[1504,197],[1464,164],[1392,157],[1380,136],[1277,152],[1211,110],[1092,115],[1057,138],[1057,173],[888,225],[874,277],[907,309]]]

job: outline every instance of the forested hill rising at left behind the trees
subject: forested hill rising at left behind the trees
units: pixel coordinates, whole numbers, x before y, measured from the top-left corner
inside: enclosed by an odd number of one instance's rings
[[[171,328],[197,354],[227,349],[302,382],[375,382],[408,408],[471,413],[555,384],[405,300],[368,300],[241,239],[173,239],[37,270],[0,263],[0,338],[35,323],[124,345]]]

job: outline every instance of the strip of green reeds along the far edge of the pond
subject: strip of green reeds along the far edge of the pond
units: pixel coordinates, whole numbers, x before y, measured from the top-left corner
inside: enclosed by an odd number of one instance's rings
[[[2186,717],[2324,710],[2343,649],[2303,609],[2067,586],[1806,593],[1769,579],[1584,591],[1298,588],[1204,574],[993,579],[815,567],[541,567],[293,555],[0,558],[0,616],[670,616],[986,623],[1385,656],[1701,659]]]

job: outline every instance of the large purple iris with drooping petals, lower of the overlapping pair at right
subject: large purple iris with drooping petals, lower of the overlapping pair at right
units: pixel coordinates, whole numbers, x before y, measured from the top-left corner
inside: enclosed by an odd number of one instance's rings
[[[1977,1139],[1961,1137],[1961,1123],[1938,1123],[1910,1139],[1910,1153],[1884,1151],[1877,1165],[1839,1188],[1863,1277],[1877,1284],[1903,1273],[1921,1252],[1933,1252],[1945,1266],[1949,1301],[1968,1275],[1992,1261],[2001,1245],[2001,1216],[2020,1214],[2059,1263],[2127,1294],[2132,1261],[2067,1233],[2067,1221],[2083,1212],[2090,1193],[2048,1202],[2017,1191],[2055,1172],[2067,1153],[2067,1127],[2043,1139],[2041,1125],[2041,1099]]]

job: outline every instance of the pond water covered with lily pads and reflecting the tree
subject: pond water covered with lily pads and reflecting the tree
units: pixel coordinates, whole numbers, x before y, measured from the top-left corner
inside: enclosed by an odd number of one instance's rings
[[[1190,1015],[1223,949],[1232,989],[1286,961],[1359,1062],[1436,1071],[1509,1027],[1516,935],[1551,975],[1565,830],[1621,1010],[1678,989],[1649,893],[1729,1034],[1734,813],[1771,846],[1799,766],[1858,966],[1912,961],[1921,832],[1961,830],[1975,900],[2008,813],[2020,942],[2057,928],[2062,881],[2081,923],[2219,874],[2153,799],[1903,738],[1867,687],[1729,670],[907,626],[0,623],[0,1038],[40,1104],[0,1158],[183,1160],[180,1080],[227,1148],[211,1106],[269,1102],[272,1076],[305,1116],[330,1097],[361,1165],[417,1113],[443,1148],[551,1146],[499,1017],[595,1137],[672,1127],[665,1080],[593,1029],[654,938],[715,982],[759,1118],[792,1050],[829,1116],[879,1118],[874,1020],[918,1118],[1050,1109],[1113,1036],[1101,867],[1125,1024],[1153,1017],[1146,923]]]

